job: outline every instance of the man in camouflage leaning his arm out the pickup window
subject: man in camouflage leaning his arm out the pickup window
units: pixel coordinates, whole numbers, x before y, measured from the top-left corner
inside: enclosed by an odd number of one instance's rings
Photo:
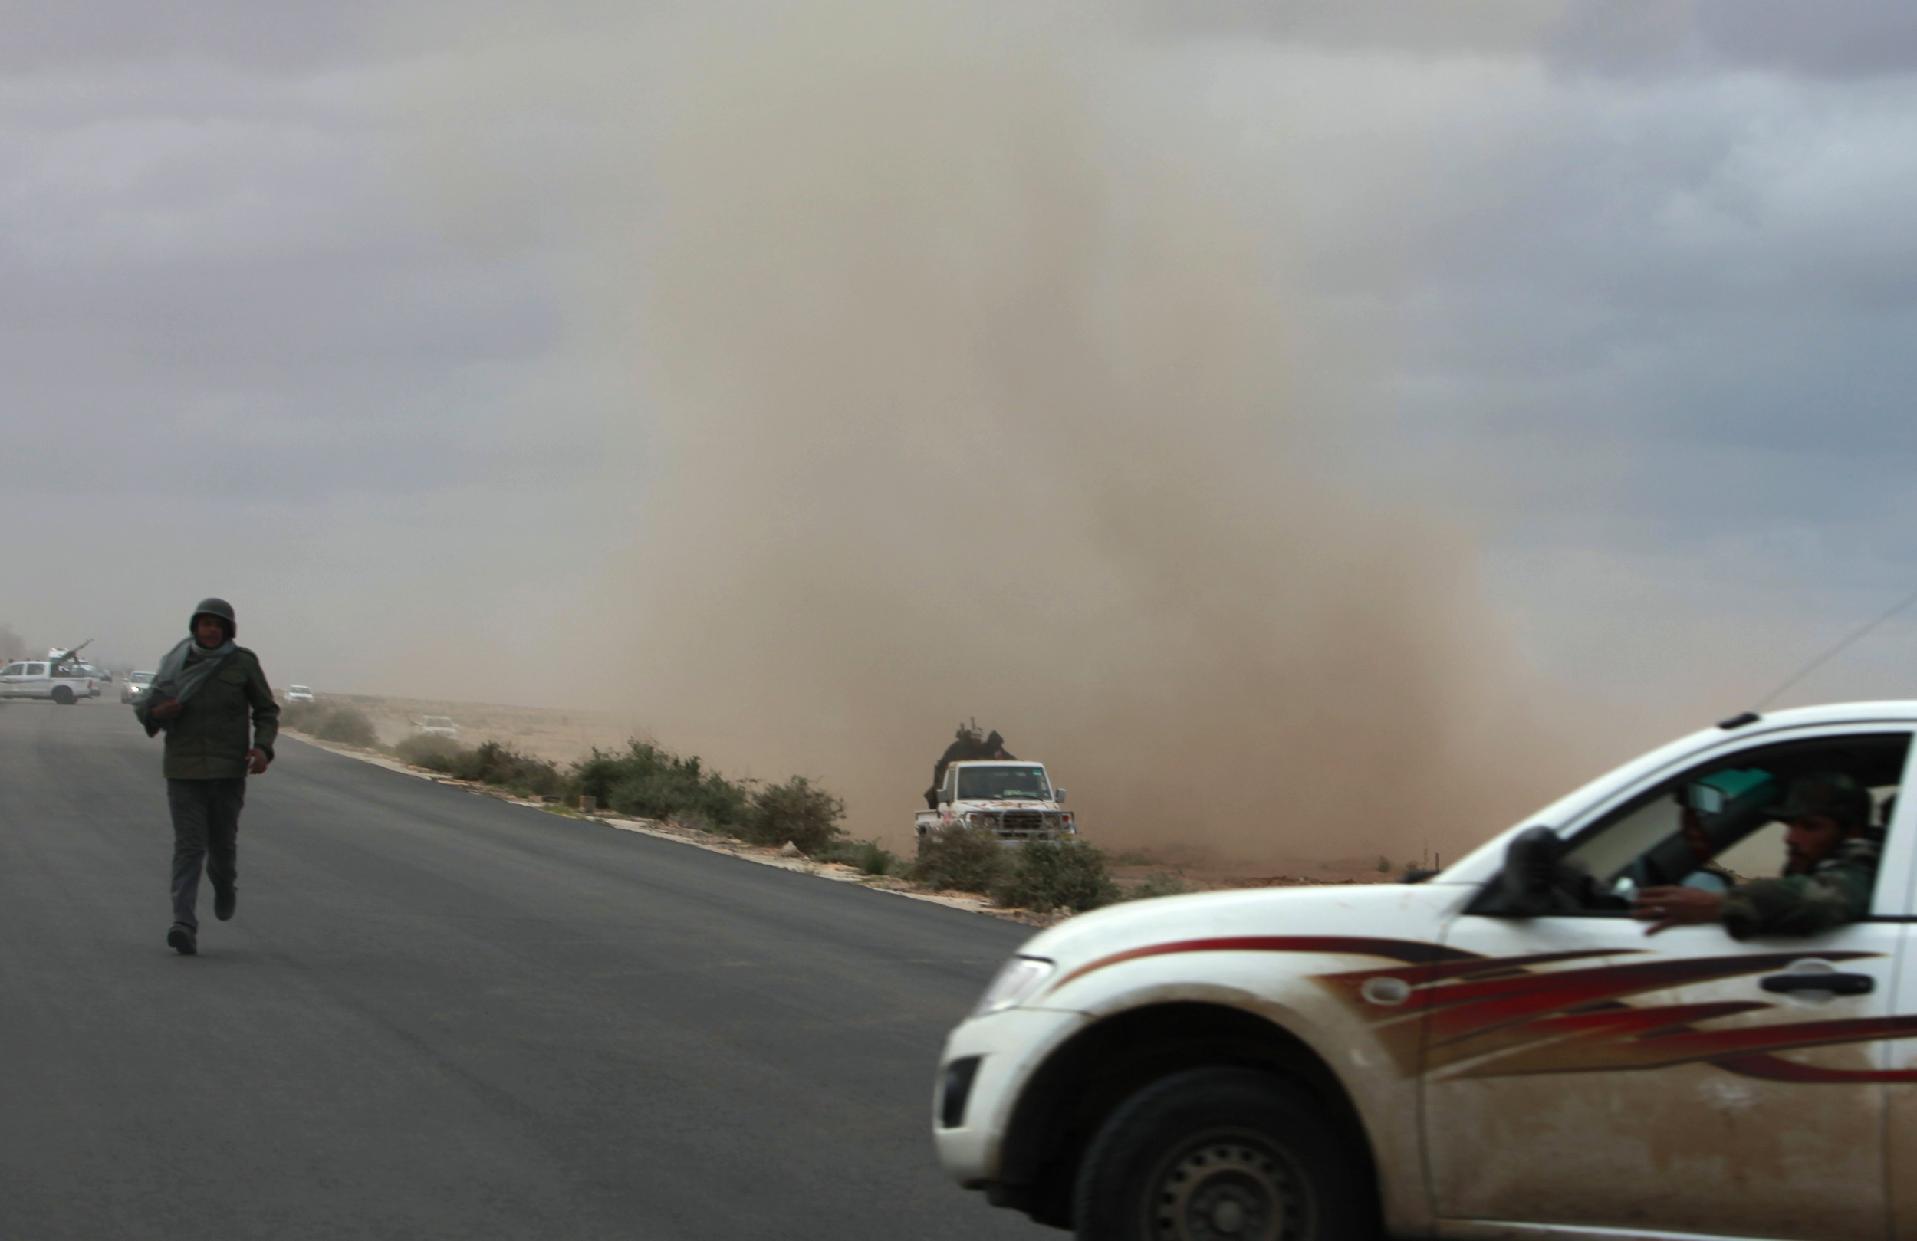
[[[1729,892],[1654,886],[1637,892],[1631,917],[1645,934],[1672,926],[1723,923],[1733,940],[1762,934],[1817,934],[1869,913],[1881,842],[1871,825],[1871,794],[1840,771],[1808,775],[1769,811],[1785,825],[1785,873]]]

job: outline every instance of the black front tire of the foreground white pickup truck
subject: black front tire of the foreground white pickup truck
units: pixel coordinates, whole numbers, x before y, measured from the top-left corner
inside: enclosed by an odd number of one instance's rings
[[[1190,1068],[1112,1112],[1079,1164],[1079,1241],[1363,1241],[1355,1153],[1309,1095],[1252,1068]]]

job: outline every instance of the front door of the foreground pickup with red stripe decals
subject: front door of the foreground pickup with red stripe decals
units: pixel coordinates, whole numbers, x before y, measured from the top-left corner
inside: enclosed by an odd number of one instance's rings
[[[1792,761],[1806,746],[1833,746],[1833,761],[1896,746],[1875,760],[1896,775],[1873,781],[1894,806],[1907,731],[1808,733],[1790,742]],[[1570,855],[1601,863],[1589,871],[1603,892],[1608,863],[1629,863],[1616,844],[1631,832],[1670,840],[1672,790],[1706,769],[1769,761],[1781,746],[1767,740],[1743,756],[1727,744],[1593,806],[1564,825]],[[1537,1224],[1574,1235],[1884,1237],[1886,1114],[1905,1118],[1902,1151],[1917,1155],[1917,1101],[1905,1097],[1917,1089],[1917,990],[1898,986],[1913,815],[1905,808],[1890,825],[1873,917],[1813,936],[1739,942],[1718,925],[1647,936],[1603,903],[1459,915],[1444,936],[1459,955],[1422,1017],[1424,1147],[1444,1235]],[[1606,857],[1608,831],[1626,836]],[[1917,1228],[1917,1197],[1902,1203]]]

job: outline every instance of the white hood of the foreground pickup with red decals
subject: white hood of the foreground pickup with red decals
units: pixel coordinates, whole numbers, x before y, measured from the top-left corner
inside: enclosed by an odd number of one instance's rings
[[[1428,944],[1472,894],[1474,888],[1459,884],[1340,884],[1164,896],[1079,915],[1041,930],[1018,953],[1047,957],[1070,972],[1102,957],[1196,936],[1350,936]]]

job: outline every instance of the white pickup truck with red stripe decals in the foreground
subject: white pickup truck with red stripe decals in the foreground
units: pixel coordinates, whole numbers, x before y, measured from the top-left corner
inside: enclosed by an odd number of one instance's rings
[[[1085,1239],[1917,1239],[1913,733],[1917,702],[1746,714],[1424,882],[1062,923],[949,1036],[939,1162]],[[1829,773],[1854,905],[1633,919],[1802,869],[1785,790]]]

